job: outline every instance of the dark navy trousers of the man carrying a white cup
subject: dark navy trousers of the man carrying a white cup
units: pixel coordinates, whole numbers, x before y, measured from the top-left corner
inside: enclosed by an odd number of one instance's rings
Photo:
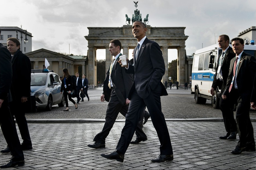
[[[116,147],[117,151],[125,154],[130,142],[132,141],[135,128],[137,127],[137,122],[141,117],[143,109],[147,106],[152,123],[160,140],[160,154],[173,154],[168,128],[164,115],[161,111],[161,88],[162,87],[159,85],[157,89],[151,90],[149,96],[145,99],[139,97],[136,90],[134,90],[131,96],[128,113],[125,116],[125,125],[122,129],[121,137]]]

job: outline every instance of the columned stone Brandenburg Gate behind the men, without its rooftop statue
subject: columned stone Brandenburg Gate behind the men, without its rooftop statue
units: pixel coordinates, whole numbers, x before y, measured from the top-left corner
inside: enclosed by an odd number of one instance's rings
[[[188,36],[185,35],[186,27],[151,27],[147,25],[147,38],[157,42],[163,53],[165,61],[165,75],[162,81],[168,80],[168,49],[177,49],[177,76],[180,84],[185,83],[185,41]],[[85,36],[88,41],[88,66],[87,78],[90,84],[97,84],[96,81],[96,50],[106,50],[106,69],[108,71],[112,56],[110,55],[109,42],[113,39],[119,39],[122,43],[123,55],[129,56],[129,49],[137,46],[137,40],[132,34],[132,25],[123,25],[122,27],[88,27],[89,35]]]

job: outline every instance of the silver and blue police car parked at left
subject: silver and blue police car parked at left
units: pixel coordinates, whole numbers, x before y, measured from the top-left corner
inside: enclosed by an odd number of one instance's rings
[[[48,69],[31,70],[31,96],[35,96],[36,106],[52,110],[52,106],[65,105],[64,95],[60,93],[59,75]]]

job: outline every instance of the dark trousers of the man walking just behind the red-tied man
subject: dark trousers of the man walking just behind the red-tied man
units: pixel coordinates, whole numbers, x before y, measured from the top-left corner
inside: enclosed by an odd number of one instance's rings
[[[224,92],[224,89],[225,89],[225,85],[223,83],[221,87],[221,96]],[[230,101],[230,96],[227,96],[226,99],[223,99],[221,97],[219,101],[219,107],[222,112],[226,132],[228,133],[237,132],[237,125],[234,119],[234,111],[233,111],[234,102]]]

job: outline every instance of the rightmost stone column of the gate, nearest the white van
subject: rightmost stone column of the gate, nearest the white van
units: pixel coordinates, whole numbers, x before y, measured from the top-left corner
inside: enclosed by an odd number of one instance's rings
[[[179,84],[185,83],[185,46],[180,46],[177,48],[178,50],[178,60],[177,60],[177,80]]]

